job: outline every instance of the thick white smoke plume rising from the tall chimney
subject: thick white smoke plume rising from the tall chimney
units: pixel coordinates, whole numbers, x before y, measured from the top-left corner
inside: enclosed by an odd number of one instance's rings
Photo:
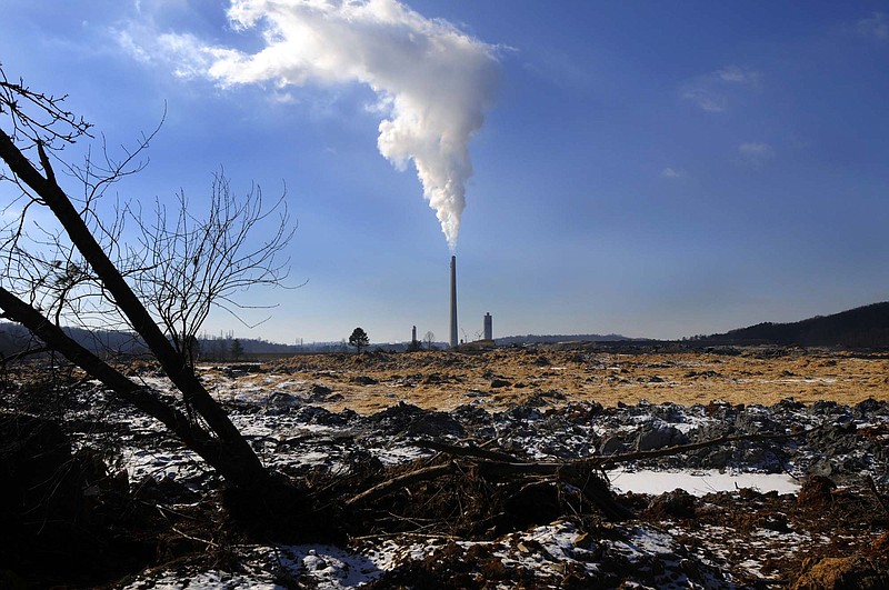
[[[222,86],[370,87],[384,117],[380,153],[399,170],[413,163],[453,251],[472,174],[469,140],[497,86],[496,48],[398,0],[232,0],[228,16],[260,30],[266,47],[208,49],[209,76]]]

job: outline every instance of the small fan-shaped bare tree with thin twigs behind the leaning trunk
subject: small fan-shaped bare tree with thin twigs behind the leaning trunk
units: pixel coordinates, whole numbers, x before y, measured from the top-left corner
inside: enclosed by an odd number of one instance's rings
[[[252,328],[257,324],[243,320],[247,307],[236,294],[260,286],[282,286],[289,259],[281,254],[296,231],[284,196],[266,208],[260,188],[236,197],[229,179],[218,172],[204,206],[207,217],[189,212],[182,191],[172,214],[158,200],[150,222],[134,216],[146,253],[139,266],[142,270],[134,276],[136,290],[187,362],[196,360],[192,343],[213,308],[229,311]],[[253,243],[260,227],[270,231]]]

